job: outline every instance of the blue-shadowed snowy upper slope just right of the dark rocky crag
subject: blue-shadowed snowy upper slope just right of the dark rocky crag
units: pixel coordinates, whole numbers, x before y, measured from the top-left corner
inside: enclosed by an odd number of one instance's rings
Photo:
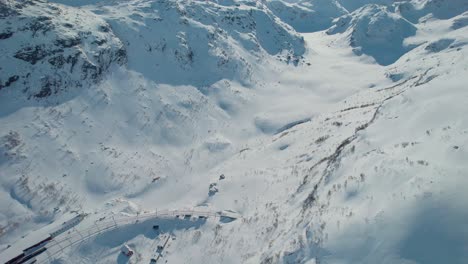
[[[305,50],[302,38],[257,1],[103,1],[85,8],[126,44],[130,69],[168,84],[227,78],[247,85],[257,60],[278,55],[297,64]]]

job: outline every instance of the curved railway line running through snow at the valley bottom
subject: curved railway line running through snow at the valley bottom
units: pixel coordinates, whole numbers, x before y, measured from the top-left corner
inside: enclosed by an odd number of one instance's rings
[[[83,218],[84,216],[81,217],[81,220],[83,220]],[[62,227],[58,231],[54,232],[54,234],[51,234],[51,239],[46,238],[44,239],[45,242],[36,244],[35,246],[37,248],[35,250],[29,249],[28,251],[25,251],[25,249],[18,249],[18,253],[17,255],[15,254],[15,256],[19,256],[20,254],[24,256],[15,261],[10,259],[6,263],[50,263],[54,258],[60,256],[60,254],[62,254],[66,249],[83,243],[100,234],[151,220],[177,219],[183,221],[197,221],[208,218],[219,218],[220,221],[234,221],[239,218],[239,216],[228,211],[211,212],[201,210],[162,210],[130,216],[111,215],[96,219],[95,221],[88,221],[86,225],[80,224],[79,222],[72,222],[73,225],[70,225],[68,229]],[[72,220],[76,221],[74,219]],[[65,224],[66,223],[64,223],[64,225]],[[20,250],[22,252],[19,252]],[[1,256],[2,254],[0,254],[0,257]]]

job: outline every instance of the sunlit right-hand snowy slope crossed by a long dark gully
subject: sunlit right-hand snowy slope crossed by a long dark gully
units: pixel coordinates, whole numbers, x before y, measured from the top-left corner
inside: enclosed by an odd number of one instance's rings
[[[357,93],[217,167],[212,174],[228,181],[212,204],[231,205],[245,221],[206,230],[214,248],[205,254],[181,243],[167,259],[465,263],[467,50],[431,48],[440,38],[466,43],[466,28],[451,24],[421,27],[414,41],[428,43],[388,68],[404,76],[394,85]]]

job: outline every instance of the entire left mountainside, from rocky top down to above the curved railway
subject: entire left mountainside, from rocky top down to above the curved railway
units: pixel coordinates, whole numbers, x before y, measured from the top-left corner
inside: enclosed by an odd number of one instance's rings
[[[263,8],[2,2],[2,241],[110,197],[175,185],[241,148],[232,141],[256,127],[228,123],[252,109],[238,82],[263,60],[293,65],[305,51]],[[16,58],[23,50],[30,56]]]

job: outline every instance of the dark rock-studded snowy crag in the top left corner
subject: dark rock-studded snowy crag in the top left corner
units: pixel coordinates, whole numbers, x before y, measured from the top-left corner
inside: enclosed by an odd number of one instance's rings
[[[126,62],[123,44],[89,11],[45,1],[0,2],[0,93],[44,98],[96,83]]]

